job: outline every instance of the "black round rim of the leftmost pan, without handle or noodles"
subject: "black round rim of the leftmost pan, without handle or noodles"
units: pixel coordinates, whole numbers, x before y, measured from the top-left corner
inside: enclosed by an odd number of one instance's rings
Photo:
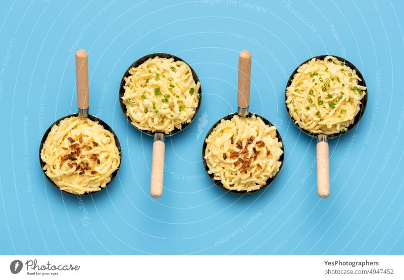
[[[68,194],[70,194],[70,195],[75,195],[75,196],[77,196],[77,195],[80,195],[80,196],[87,196],[87,195],[91,195],[91,194],[95,194],[95,193],[97,193],[97,192],[100,192],[100,191],[102,191],[103,189],[106,189],[106,188],[108,187],[108,185],[115,179],[116,175],[118,174],[119,168],[121,167],[121,163],[122,163],[122,150],[121,150],[121,144],[120,144],[120,142],[119,142],[118,136],[115,134],[115,132],[114,132],[114,130],[111,128],[111,126],[109,126],[105,121],[103,121],[102,119],[100,119],[100,118],[98,118],[98,117],[96,117],[96,116],[94,116],[94,115],[88,115],[88,118],[89,118],[89,119],[91,119],[92,121],[95,121],[95,120],[99,121],[99,123],[100,123],[101,125],[103,125],[104,129],[107,129],[108,131],[110,131],[110,132],[114,135],[115,145],[117,146],[118,151],[119,151],[119,159],[120,159],[120,161],[119,161],[118,168],[111,174],[111,180],[106,184],[106,186],[105,186],[104,188],[101,188],[100,190],[91,191],[91,192],[85,192],[85,193],[83,193],[83,194],[75,194],[75,193],[71,193],[71,192],[62,190],[62,189],[60,189],[60,187],[58,187],[58,185],[57,185],[51,178],[49,178],[49,177],[47,176],[45,170],[43,170],[43,166],[45,165],[45,163],[44,163],[44,162],[42,161],[42,159],[41,159],[41,151],[42,151],[42,148],[43,148],[43,144],[45,143],[46,138],[47,138],[49,132],[51,131],[52,127],[53,127],[55,124],[59,125],[59,123],[60,123],[63,119],[65,119],[65,118],[77,117],[78,115],[79,115],[78,113],[73,113],[73,114],[70,114],[70,115],[61,117],[61,118],[59,118],[58,120],[56,120],[54,123],[52,123],[52,124],[46,129],[45,133],[44,133],[43,136],[42,136],[41,142],[40,142],[40,144],[39,144],[39,165],[40,165],[41,170],[42,170],[42,173],[43,173],[43,175],[46,177],[46,179],[47,179],[54,187],[56,187],[56,188],[59,189],[60,191],[65,192],[65,193],[68,193]]]

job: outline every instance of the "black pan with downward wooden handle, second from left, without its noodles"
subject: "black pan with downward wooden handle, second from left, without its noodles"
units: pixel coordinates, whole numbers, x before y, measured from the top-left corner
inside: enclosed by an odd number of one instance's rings
[[[130,124],[132,124],[132,120],[130,119],[130,117],[126,114],[127,110],[126,110],[126,105],[123,103],[123,95],[125,94],[125,89],[123,88],[125,86],[125,78],[129,77],[129,70],[133,67],[137,67],[140,64],[142,64],[144,61],[146,61],[149,58],[154,58],[154,57],[164,57],[164,58],[174,58],[174,61],[183,61],[185,62],[189,68],[191,69],[191,73],[192,73],[192,77],[195,81],[195,84],[199,81],[198,76],[196,76],[195,71],[192,69],[192,67],[183,59],[172,55],[172,54],[168,54],[168,53],[152,53],[152,54],[148,54],[145,55],[139,59],[137,59],[135,62],[132,63],[132,65],[130,65],[128,67],[128,69],[125,71],[125,74],[122,77],[122,81],[121,81],[121,85],[119,87],[119,102],[121,104],[121,109],[123,114],[125,115],[126,119],[129,121]],[[151,162],[151,180],[150,180],[150,194],[151,196],[153,196],[154,198],[159,198],[162,193],[163,193],[163,178],[164,178],[164,151],[165,151],[165,144],[164,144],[164,138],[168,137],[168,136],[172,136],[175,133],[180,132],[181,130],[185,129],[196,117],[196,114],[199,111],[199,107],[200,104],[202,102],[202,88],[199,88],[199,93],[195,93],[195,94],[199,94],[199,100],[198,100],[198,106],[196,107],[195,110],[195,114],[193,115],[193,117],[191,118],[191,121],[189,123],[183,123],[181,125],[181,129],[178,128],[174,128],[174,130],[172,130],[169,133],[162,133],[162,132],[151,132],[151,131],[147,131],[147,130],[141,130],[138,129],[136,126],[134,126],[132,124],[133,127],[135,127],[137,130],[139,130],[140,132],[143,132],[149,136],[153,136],[154,137],[154,143],[153,143],[153,157],[152,157],[152,162]]]

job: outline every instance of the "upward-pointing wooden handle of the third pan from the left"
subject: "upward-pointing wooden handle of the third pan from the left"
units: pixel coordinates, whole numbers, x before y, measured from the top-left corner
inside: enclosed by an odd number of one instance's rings
[[[249,105],[250,78],[251,53],[248,50],[242,50],[238,55],[237,105],[239,108],[247,108]]]

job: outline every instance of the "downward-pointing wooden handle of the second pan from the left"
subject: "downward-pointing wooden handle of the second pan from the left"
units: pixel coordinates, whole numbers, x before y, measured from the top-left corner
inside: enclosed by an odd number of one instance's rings
[[[164,151],[165,144],[163,141],[157,140],[153,143],[150,194],[154,198],[159,198],[163,193]]]

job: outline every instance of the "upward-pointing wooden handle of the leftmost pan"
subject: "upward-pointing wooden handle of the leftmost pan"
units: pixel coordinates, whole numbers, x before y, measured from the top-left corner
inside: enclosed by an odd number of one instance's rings
[[[77,107],[88,109],[88,58],[83,49],[76,51]]]

